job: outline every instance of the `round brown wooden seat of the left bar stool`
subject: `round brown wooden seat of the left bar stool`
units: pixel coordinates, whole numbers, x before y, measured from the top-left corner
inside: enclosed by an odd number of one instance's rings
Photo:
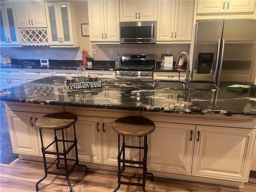
[[[36,126],[40,129],[63,129],[77,122],[77,116],[69,112],[52,113],[38,118]]]

